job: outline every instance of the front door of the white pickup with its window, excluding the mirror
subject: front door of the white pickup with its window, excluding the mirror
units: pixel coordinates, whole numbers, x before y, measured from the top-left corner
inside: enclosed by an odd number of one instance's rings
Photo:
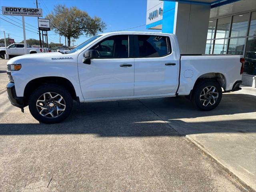
[[[89,49],[97,50],[100,56],[91,59],[91,64],[84,64],[78,56],[84,99],[133,96],[134,58],[129,56],[129,35],[107,36]]]

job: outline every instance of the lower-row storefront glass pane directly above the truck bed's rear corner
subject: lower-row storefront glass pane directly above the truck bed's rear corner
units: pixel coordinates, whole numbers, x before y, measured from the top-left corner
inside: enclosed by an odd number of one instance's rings
[[[243,55],[245,38],[232,38],[229,41],[228,54]]]

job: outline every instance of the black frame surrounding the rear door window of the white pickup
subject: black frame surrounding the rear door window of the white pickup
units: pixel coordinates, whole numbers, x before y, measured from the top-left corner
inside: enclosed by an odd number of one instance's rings
[[[140,56],[136,56],[139,55],[139,42],[138,42],[138,36],[161,36],[161,37],[165,37],[166,38],[166,45],[167,45],[167,54],[162,55],[162,56],[156,56],[156,57],[140,57]],[[133,35],[133,43],[134,43],[134,53],[133,53],[133,58],[161,58],[161,57],[165,57],[168,56],[170,54],[172,54],[172,45],[171,45],[171,41],[170,41],[170,37],[169,36],[165,36],[165,35],[157,35],[157,34],[134,34]]]

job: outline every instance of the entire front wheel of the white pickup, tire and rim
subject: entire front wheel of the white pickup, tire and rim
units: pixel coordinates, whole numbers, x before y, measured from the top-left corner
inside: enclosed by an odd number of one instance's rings
[[[72,110],[70,93],[56,84],[37,88],[30,96],[28,107],[32,116],[42,123],[58,123],[66,119]]]

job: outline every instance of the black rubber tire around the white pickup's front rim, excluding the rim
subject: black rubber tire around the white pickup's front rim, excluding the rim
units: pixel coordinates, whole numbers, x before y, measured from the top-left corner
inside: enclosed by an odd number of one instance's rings
[[[38,107],[36,106],[38,98],[40,98],[40,96],[47,92],[54,92],[60,94],[63,97],[63,100],[66,104],[65,110],[55,118],[48,118],[42,116],[41,114],[39,114]],[[59,123],[70,115],[70,112],[73,107],[73,99],[70,93],[62,86],[56,84],[46,84],[38,87],[36,90],[34,90],[34,92],[32,92],[28,101],[28,107],[32,116],[39,122],[46,124]]]

